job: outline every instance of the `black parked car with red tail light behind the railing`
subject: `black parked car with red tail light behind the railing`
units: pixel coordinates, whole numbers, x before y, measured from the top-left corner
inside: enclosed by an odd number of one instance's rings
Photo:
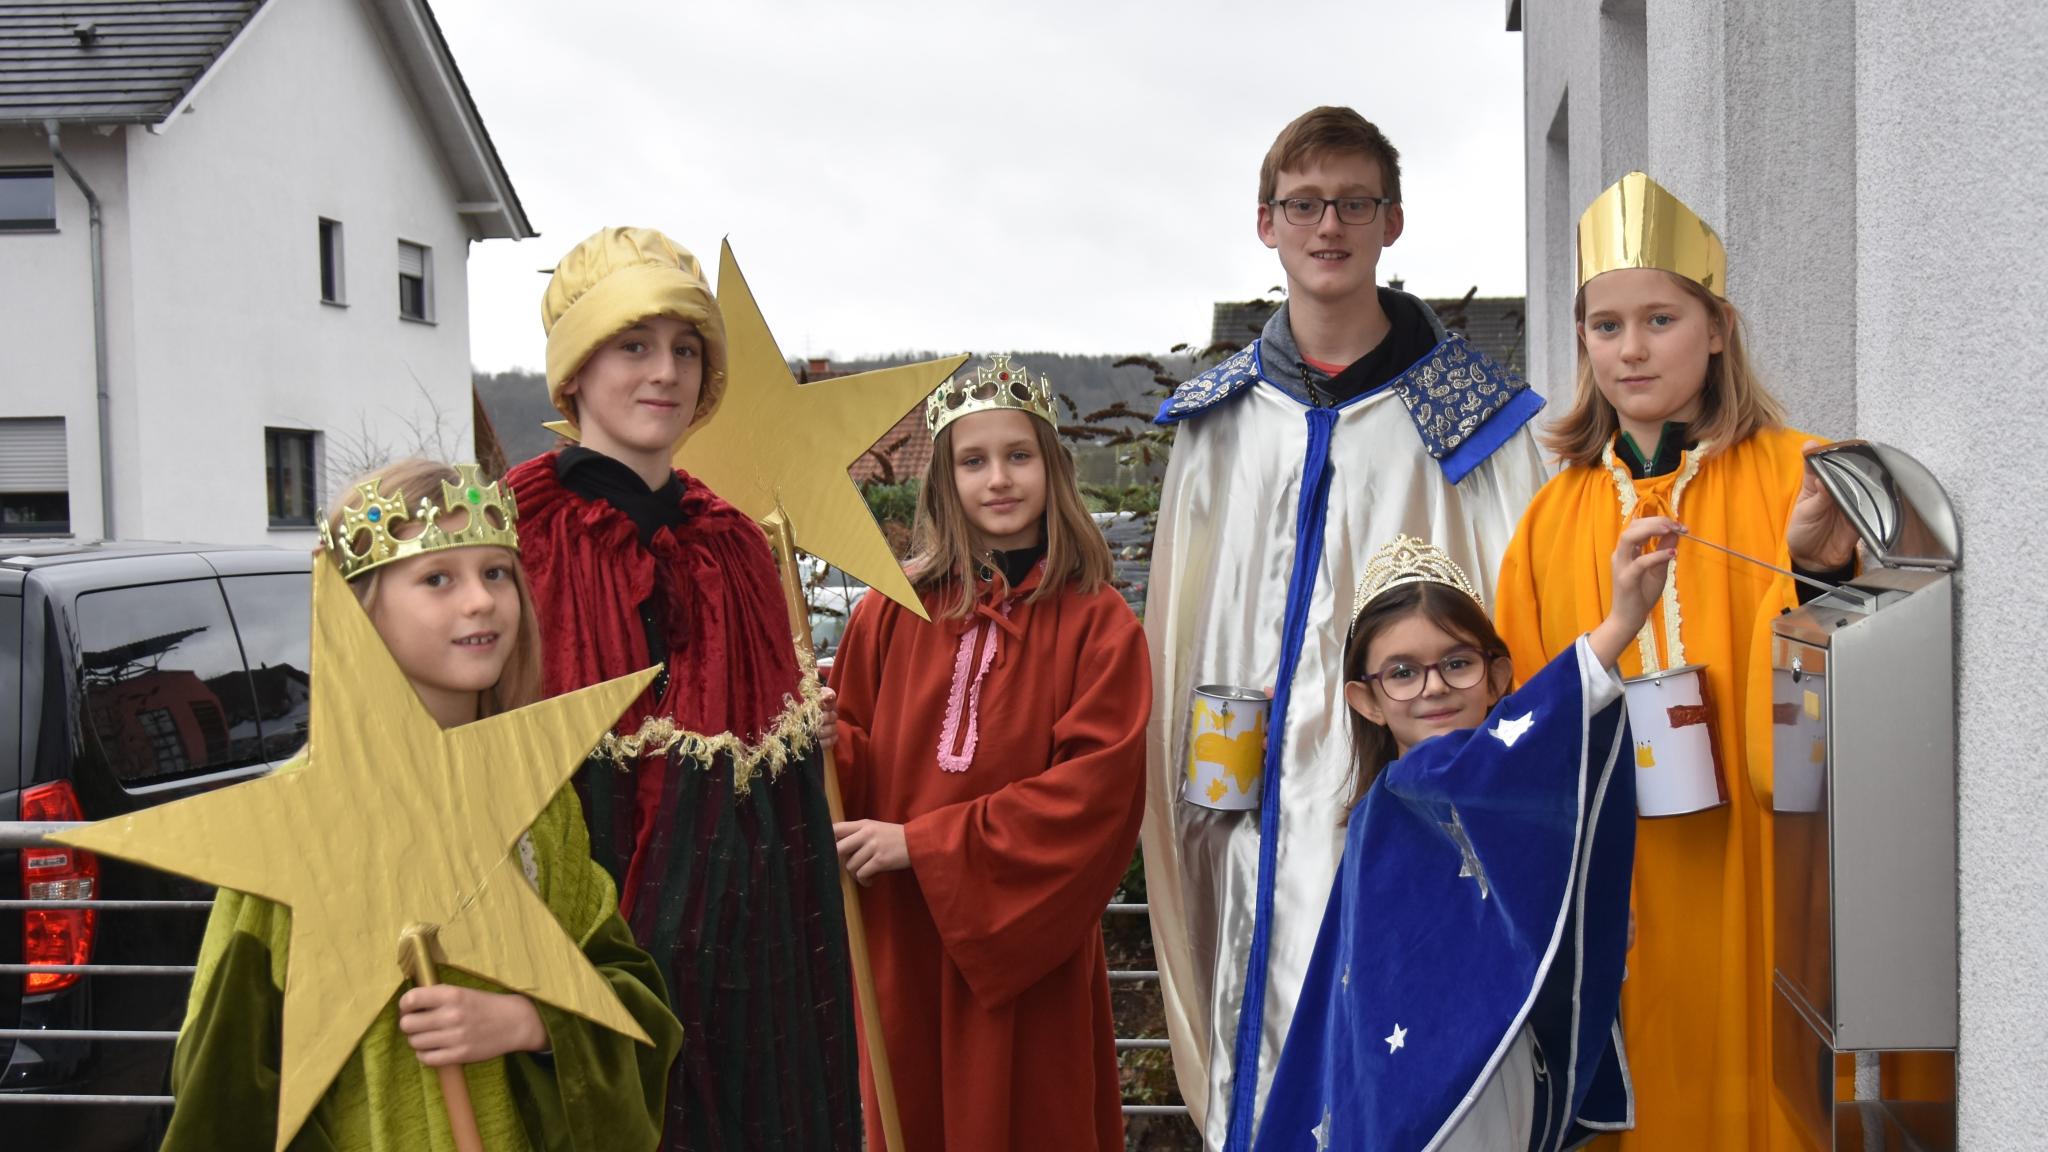
[[[104,820],[270,771],[305,744],[309,558],[0,541],[0,820]],[[0,851],[20,900],[211,900],[59,847]],[[190,965],[205,910],[0,912],[12,963]],[[0,1027],[176,1031],[186,976],[0,976]],[[0,1095],[166,1095],[164,1041],[0,1039]],[[150,1148],[166,1109],[0,1099],[8,1148]]]

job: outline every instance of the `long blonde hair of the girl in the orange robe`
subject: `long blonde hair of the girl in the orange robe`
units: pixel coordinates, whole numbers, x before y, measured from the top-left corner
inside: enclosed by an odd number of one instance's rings
[[[1743,314],[1733,303],[1706,291],[1698,283],[1671,275],[1694,299],[1706,307],[1708,324],[1720,332],[1720,351],[1706,357],[1706,387],[1700,392],[1700,416],[1688,424],[1688,435],[1710,445],[1710,451],[1731,449],[1763,428],[1784,424],[1786,410],[1778,398],[1757,379],[1757,369],[1749,363],[1743,346]],[[1550,422],[1538,437],[1542,447],[1556,453],[1565,463],[1597,467],[1602,453],[1614,443],[1620,430],[1620,416],[1599,394],[1593,381],[1593,357],[1585,351],[1585,287],[1571,305],[1571,316],[1579,326],[1579,379],[1573,387],[1571,410]]]

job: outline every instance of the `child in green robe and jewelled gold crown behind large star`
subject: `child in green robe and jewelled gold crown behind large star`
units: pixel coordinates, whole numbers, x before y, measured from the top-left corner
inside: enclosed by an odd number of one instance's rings
[[[367,478],[403,508],[422,498],[440,506],[442,482],[457,484],[459,474],[430,461],[395,463]],[[360,506],[362,490],[350,500]],[[449,531],[467,527],[465,510],[440,510]],[[424,523],[399,523],[391,535],[408,539],[420,529]],[[328,531],[340,531],[338,512]],[[514,547],[442,545],[342,566],[442,728],[541,699],[539,627]],[[332,551],[315,558],[328,562],[340,564]],[[446,970],[444,984],[410,988],[385,1004],[293,1138],[293,1150],[453,1148],[436,1082],[449,1064],[463,1066],[492,1152],[631,1152],[657,1144],[682,1027],[668,1009],[659,968],[618,918],[610,875],[590,859],[575,789],[555,795],[520,838],[518,855],[528,883],[653,1045]],[[164,1138],[168,1152],[272,1152],[289,941],[289,908],[225,888],[215,898],[170,1070],[178,1103]]]

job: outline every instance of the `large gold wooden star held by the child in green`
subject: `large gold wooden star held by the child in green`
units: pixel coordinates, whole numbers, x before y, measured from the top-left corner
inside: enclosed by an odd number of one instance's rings
[[[512,849],[653,668],[442,730],[340,572],[313,562],[311,734],[274,775],[92,824],[68,845],[291,906],[276,1148],[401,984],[436,961],[649,1043]]]

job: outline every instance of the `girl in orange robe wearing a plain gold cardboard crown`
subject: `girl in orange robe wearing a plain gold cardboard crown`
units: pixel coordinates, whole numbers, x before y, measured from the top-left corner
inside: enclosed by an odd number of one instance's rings
[[[1499,629],[1534,676],[1597,625],[1622,525],[1673,517],[1780,568],[1845,578],[1855,533],[1804,471],[1804,433],[1755,379],[1718,295],[1720,240],[1632,172],[1579,221],[1579,379],[1546,430],[1565,469],[1530,502],[1501,562]],[[1729,804],[1636,828],[1634,947],[1622,1037],[1636,1125],[1604,1148],[1798,1150],[1769,1068],[1769,621],[1792,580],[1681,541],[1624,676],[1706,666]]]

